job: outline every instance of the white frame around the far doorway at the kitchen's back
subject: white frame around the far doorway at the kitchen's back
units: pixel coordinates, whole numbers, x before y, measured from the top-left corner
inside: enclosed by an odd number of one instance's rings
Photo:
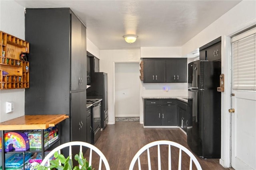
[[[138,63],[138,65],[140,64],[141,61],[114,61],[113,62],[113,124],[116,124],[116,120],[115,120],[115,117],[116,117],[116,113],[115,113],[115,103],[116,103],[116,92],[115,92],[115,65],[116,63]],[[140,70],[138,70],[139,72]],[[139,77],[138,77],[139,78]],[[140,82],[140,94],[139,94],[139,99],[140,99],[140,124],[142,123],[142,119],[143,119],[143,115],[142,115],[142,98],[141,98],[141,87],[142,87],[142,83]]]

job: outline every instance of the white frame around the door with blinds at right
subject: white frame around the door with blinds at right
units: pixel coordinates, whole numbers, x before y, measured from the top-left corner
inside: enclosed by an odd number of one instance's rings
[[[224,92],[221,92],[221,158],[220,164],[224,168],[232,167],[231,135],[232,135],[232,113],[228,109],[232,108],[232,37],[242,31],[253,27],[256,23],[250,23],[246,27],[241,27],[230,35],[221,37],[221,72],[225,75]]]

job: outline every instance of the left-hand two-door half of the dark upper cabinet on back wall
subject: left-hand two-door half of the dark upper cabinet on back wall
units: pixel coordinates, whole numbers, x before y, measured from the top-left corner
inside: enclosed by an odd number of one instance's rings
[[[144,82],[165,82],[165,60],[144,59]]]

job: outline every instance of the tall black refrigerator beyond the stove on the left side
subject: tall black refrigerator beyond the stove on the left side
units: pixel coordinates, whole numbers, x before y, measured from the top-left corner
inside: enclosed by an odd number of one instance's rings
[[[90,87],[86,90],[88,99],[102,99],[101,127],[108,124],[108,74],[106,72],[91,73]]]

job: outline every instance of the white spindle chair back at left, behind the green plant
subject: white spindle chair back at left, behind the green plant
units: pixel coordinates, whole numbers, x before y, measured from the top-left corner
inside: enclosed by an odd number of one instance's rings
[[[42,161],[41,165],[45,166],[46,162],[48,164],[48,166],[50,165],[50,157],[52,155],[54,155],[54,153],[56,151],[58,151],[58,153],[61,153],[61,149],[69,147],[69,156],[70,159],[72,159],[72,146],[80,146],[80,151],[82,152],[82,147],[87,147],[88,149],[90,149],[90,156],[89,156],[89,166],[92,165],[92,151],[96,152],[99,156],[100,156],[100,162],[99,162],[99,170],[101,170],[102,167],[102,162],[104,163],[106,170],[110,170],[110,166],[108,164],[108,160],[106,159],[106,157],[104,156],[104,154],[94,145],[91,145],[90,143],[86,143],[86,142],[80,142],[80,141],[74,141],[74,142],[68,142],[68,143],[64,143],[56,148],[54,148],[51,152],[49,152],[49,154],[47,154],[47,156],[44,158],[44,160]],[[79,153],[77,153],[79,154]],[[84,153],[83,153],[84,154]],[[61,163],[60,163],[61,164]],[[81,166],[79,165],[79,168],[81,168]],[[95,167],[92,167],[95,168]],[[50,168],[48,168],[48,170],[50,170]]]

